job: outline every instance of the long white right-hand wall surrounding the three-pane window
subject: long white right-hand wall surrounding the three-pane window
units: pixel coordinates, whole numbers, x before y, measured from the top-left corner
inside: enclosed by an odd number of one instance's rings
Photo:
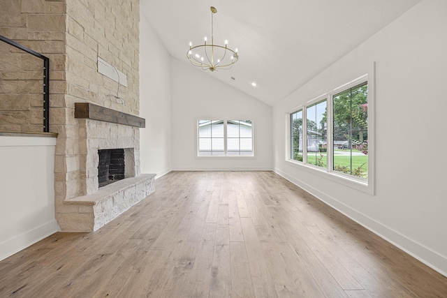
[[[275,170],[447,273],[447,1],[422,1],[273,109]],[[285,161],[285,113],[376,61],[376,195]]]

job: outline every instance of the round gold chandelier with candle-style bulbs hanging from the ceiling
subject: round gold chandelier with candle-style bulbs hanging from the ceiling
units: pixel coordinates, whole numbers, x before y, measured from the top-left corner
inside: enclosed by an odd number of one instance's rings
[[[186,57],[189,59],[193,66],[198,66],[203,70],[219,70],[229,69],[233,64],[237,62],[239,56],[237,55],[237,49],[231,50],[227,47],[228,40],[225,40],[225,46],[214,45],[214,27],[213,27],[213,15],[217,13],[217,9],[211,6],[211,44],[207,44],[207,38],[205,36],[205,43],[203,45],[196,45],[193,47],[192,43],[189,43],[189,50],[186,53]]]

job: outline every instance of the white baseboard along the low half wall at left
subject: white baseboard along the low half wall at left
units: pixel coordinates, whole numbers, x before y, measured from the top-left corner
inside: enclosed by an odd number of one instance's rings
[[[0,260],[8,258],[22,249],[35,244],[37,241],[41,241],[45,237],[59,232],[59,225],[57,221],[53,220],[43,225],[38,226],[32,230],[17,235],[14,238],[8,239],[0,243]]]

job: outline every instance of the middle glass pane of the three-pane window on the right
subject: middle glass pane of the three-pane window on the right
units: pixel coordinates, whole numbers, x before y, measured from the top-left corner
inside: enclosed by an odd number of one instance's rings
[[[327,125],[326,100],[310,105],[306,110],[307,163],[326,167],[327,162]]]

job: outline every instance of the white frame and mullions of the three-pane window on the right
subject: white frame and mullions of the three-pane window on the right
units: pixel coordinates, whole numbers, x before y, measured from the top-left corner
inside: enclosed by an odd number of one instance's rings
[[[368,87],[368,178],[362,179],[360,177],[356,177],[351,174],[344,174],[342,172],[337,172],[333,170],[333,152],[334,152],[334,142],[333,142],[333,96],[346,91],[352,87],[356,87],[363,82],[367,82]],[[362,191],[365,193],[369,193],[370,195],[375,194],[375,63],[372,68],[369,69],[369,72],[365,75],[361,75],[356,77],[354,80],[350,80],[346,82],[346,84],[342,84],[339,87],[336,87],[317,98],[309,100],[304,105],[300,105],[299,107],[295,107],[291,112],[286,113],[287,126],[287,137],[286,137],[286,161],[288,163],[292,163],[294,166],[306,170],[307,172],[311,172],[312,174],[316,174],[319,177],[324,177],[325,179],[330,179],[339,184],[343,184],[345,186],[349,186],[351,188],[355,188],[358,191]],[[319,102],[326,100],[326,140],[327,140],[327,165],[326,167],[318,167],[316,165],[312,165],[307,163],[307,107],[311,107],[312,105],[318,104]],[[295,161],[291,159],[291,114],[302,109],[302,119],[303,119],[303,161]],[[329,112],[330,111],[330,112]],[[305,123],[304,123],[305,122]],[[304,140],[306,139],[306,140]]]

